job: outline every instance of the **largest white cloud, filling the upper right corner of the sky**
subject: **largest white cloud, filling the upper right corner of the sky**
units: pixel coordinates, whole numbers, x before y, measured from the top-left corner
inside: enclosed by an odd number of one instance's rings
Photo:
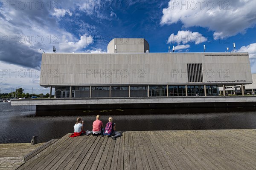
[[[177,1],[163,9],[161,25],[180,21],[186,28],[201,26],[214,31],[215,40],[245,33],[256,24],[256,0]]]

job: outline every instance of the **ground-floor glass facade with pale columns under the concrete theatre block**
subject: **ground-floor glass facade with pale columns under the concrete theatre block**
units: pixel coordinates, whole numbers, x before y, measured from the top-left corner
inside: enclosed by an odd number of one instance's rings
[[[221,85],[55,86],[55,98],[217,96],[220,95],[219,86]]]

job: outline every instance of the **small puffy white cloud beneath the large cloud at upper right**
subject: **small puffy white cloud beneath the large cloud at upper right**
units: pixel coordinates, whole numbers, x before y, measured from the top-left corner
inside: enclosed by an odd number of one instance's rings
[[[199,44],[205,41],[207,41],[207,38],[199,32],[178,31],[177,35],[171,34],[169,36],[167,43],[186,44],[189,42],[194,42],[195,44]]]

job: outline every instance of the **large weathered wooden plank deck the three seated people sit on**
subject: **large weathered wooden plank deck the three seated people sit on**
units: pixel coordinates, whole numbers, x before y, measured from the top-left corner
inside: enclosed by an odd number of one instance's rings
[[[255,170],[256,130],[67,134],[31,154],[17,170]]]

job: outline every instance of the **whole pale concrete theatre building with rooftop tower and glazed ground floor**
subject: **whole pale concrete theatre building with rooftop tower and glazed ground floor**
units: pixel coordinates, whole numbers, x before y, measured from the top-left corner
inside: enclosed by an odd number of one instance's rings
[[[143,38],[114,38],[108,53],[43,53],[40,79],[55,98],[216,96],[252,82],[248,53],[150,53]]]

